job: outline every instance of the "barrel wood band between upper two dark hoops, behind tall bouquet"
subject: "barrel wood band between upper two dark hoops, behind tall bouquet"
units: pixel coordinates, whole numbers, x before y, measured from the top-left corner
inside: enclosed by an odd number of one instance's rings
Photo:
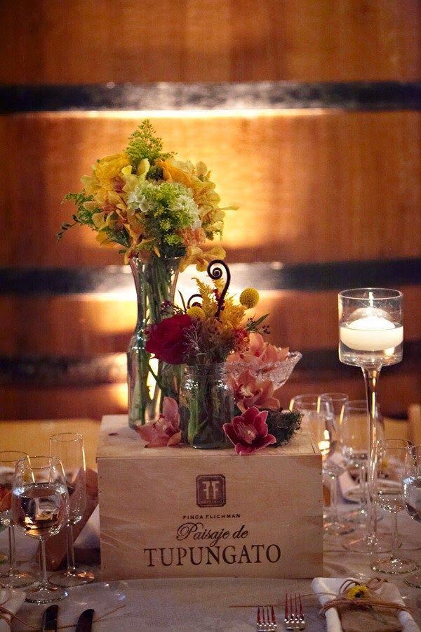
[[[272,112],[152,117],[169,150],[204,160],[228,212],[229,261],[323,262],[421,253],[421,113]],[[8,266],[121,263],[88,228],[60,243],[97,157],[124,148],[142,115],[14,115],[0,120],[0,262]]]

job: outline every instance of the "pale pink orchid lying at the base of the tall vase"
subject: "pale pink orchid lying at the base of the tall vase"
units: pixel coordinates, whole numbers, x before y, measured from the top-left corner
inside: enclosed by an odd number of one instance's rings
[[[147,448],[177,446],[181,441],[180,414],[173,397],[164,397],[162,414],[156,421],[149,421],[136,428],[136,432],[147,442]]]

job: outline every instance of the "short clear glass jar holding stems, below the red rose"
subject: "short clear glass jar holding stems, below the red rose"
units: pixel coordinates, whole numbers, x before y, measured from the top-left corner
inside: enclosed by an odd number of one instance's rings
[[[222,425],[234,417],[234,392],[225,363],[185,367],[180,385],[183,441],[199,449],[232,447]]]

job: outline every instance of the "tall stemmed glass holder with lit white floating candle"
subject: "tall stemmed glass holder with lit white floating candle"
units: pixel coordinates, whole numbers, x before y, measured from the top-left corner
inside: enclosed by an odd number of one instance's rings
[[[373,475],[373,448],[377,429],[377,385],[382,366],[402,359],[403,295],[398,290],[358,288],[344,290],[338,296],[339,359],[344,364],[359,366],[366,384],[370,423],[368,475]],[[368,533],[356,543],[356,550],[378,553],[387,550],[376,533],[375,506],[368,494]]]

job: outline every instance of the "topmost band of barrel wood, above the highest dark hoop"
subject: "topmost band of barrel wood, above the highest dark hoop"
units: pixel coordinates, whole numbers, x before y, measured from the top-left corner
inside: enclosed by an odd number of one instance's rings
[[[3,83],[420,77],[418,0],[15,0],[0,22]]]

